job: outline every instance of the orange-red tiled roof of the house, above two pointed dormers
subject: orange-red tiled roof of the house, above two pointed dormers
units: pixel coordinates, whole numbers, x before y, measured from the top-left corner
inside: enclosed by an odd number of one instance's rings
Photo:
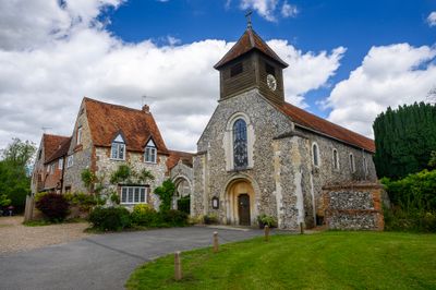
[[[161,154],[168,154],[159,129],[148,110],[136,110],[124,106],[84,98],[90,136],[96,146],[111,146],[119,133],[128,150],[144,152],[153,138]]]

